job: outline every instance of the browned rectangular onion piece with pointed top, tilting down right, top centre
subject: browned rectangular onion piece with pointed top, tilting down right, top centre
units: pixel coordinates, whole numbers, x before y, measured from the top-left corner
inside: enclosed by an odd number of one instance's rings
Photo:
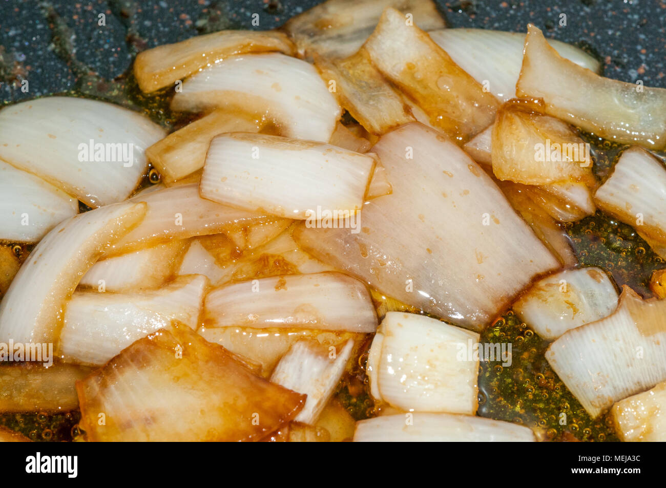
[[[430,117],[464,140],[495,119],[497,99],[396,9],[386,9],[364,48],[372,63]]]

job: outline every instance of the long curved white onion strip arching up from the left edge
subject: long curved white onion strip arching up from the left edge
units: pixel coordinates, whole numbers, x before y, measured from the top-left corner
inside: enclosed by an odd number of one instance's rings
[[[58,224],[23,263],[0,302],[0,342],[55,342],[65,300],[81,276],[146,214],[121,203]]]

